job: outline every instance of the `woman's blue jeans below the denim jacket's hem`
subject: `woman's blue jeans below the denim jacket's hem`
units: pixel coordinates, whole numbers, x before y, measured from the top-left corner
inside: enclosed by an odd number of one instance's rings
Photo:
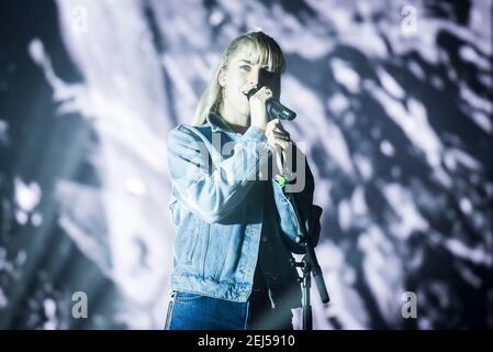
[[[245,330],[248,302],[173,292],[166,330]]]

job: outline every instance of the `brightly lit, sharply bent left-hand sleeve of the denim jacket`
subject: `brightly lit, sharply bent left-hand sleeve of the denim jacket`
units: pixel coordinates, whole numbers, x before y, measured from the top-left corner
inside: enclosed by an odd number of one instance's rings
[[[212,163],[205,145],[193,128],[175,128],[168,135],[168,168],[178,197],[212,223],[243,200],[270,152],[264,131],[255,127],[235,144],[232,156],[220,163]]]

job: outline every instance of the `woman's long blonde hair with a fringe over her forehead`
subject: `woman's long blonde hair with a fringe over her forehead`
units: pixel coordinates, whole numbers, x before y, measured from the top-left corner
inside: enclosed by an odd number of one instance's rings
[[[212,111],[219,110],[223,101],[223,87],[219,84],[219,76],[222,69],[226,69],[232,57],[239,48],[249,46],[257,54],[254,63],[266,63],[269,69],[281,75],[285,69],[284,55],[281,47],[269,35],[261,31],[249,32],[233,40],[221,55],[221,61],[214,70],[212,81],[202,94],[193,113],[192,125],[201,125]]]

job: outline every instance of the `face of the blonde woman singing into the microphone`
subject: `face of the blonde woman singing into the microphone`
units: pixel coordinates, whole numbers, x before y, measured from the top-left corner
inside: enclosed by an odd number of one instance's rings
[[[267,63],[253,63],[257,53],[250,48],[239,48],[233,55],[226,69],[221,70],[219,80],[223,87],[223,105],[227,111],[248,118],[250,106],[245,96],[249,87],[266,86],[272,90],[274,99],[281,94],[280,75],[269,70]]]

